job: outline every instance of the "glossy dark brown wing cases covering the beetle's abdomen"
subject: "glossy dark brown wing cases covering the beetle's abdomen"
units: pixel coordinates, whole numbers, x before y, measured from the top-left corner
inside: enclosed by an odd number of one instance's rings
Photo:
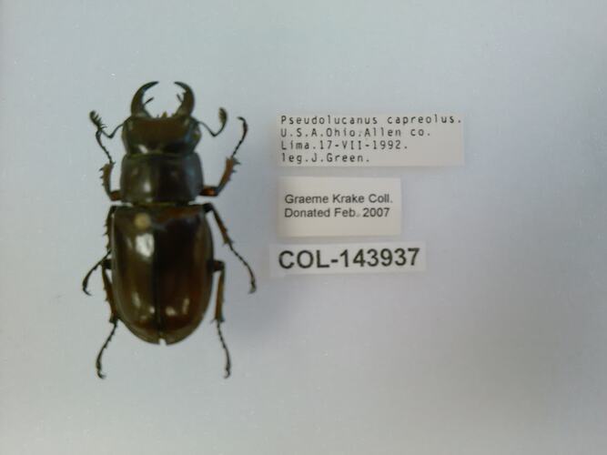
[[[186,338],[205,314],[213,283],[203,207],[116,207],[110,236],[118,317],[152,343]]]

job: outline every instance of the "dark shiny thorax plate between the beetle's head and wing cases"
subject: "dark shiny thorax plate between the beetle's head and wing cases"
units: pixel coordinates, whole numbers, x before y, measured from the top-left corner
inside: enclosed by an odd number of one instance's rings
[[[192,201],[204,185],[201,168],[197,153],[125,155],[120,199],[134,204]]]

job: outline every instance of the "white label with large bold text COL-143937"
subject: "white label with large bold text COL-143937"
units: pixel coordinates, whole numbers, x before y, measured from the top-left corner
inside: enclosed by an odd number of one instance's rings
[[[423,242],[271,245],[269,257],[273,277],[426,269]]]

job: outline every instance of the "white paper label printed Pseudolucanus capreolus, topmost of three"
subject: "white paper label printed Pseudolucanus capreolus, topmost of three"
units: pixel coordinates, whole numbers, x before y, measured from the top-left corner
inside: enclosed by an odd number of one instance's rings
[[[292,167],[463,164],[463,121],[452,114],[278,116],[278,164]]]

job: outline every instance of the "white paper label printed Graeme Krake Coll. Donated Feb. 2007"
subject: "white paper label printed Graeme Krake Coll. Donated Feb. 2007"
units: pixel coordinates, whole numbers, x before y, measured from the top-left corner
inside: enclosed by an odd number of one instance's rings
[[[278,234],[398,236],[400,179],[280,177]]]

